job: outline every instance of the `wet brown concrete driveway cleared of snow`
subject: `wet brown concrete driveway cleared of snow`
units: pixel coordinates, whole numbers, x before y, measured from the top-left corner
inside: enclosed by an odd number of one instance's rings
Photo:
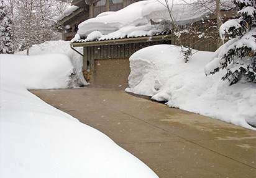
[[[97,88],[33,90],[108,135],[161,177],[256,177],[256,132]]]

